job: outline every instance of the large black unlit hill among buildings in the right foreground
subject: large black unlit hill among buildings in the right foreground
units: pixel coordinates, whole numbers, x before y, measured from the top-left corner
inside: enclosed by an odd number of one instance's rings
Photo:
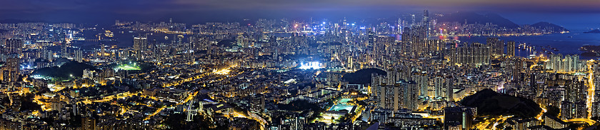
[[[502,95],[491,89],[484,89],[471,96],[466,96],[460,104],[476,107],[477,114],[480,116],[515,115],[528,118],[536,116],[541,111],[539,105],[531,99]]]

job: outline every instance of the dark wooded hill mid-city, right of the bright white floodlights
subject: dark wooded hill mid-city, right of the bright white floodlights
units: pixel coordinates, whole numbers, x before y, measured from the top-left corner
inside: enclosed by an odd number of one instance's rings
[[[371,74],[386,75],[386,71],[381,69],[361,69],[354,73],[344,74],[342,79],[349,82],[349,84],[371,84]]]

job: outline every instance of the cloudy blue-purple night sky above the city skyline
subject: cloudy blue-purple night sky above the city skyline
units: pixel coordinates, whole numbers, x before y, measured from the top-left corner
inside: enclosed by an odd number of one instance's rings
[[[600,27],[598,0],[1,0],[0,19],[112,23],[114,19],[199,23],[255,18],[385,17],[401,13],[501,14],[517,24],[590,19]]]

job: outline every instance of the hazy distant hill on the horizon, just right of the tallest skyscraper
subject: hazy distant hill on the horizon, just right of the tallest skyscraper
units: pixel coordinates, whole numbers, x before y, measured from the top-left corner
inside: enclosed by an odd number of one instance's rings
[[[475,12],[458,12],[454,14],[447,14],[444,16],[438,17],[440,22],[458,22],[464,24],[496,24],[500,27],[506,27],[509,29],[519,28],[519,24],[514,24],[514,22],[509,19],[505,19],[504,17],[498,14],[477,14]]]

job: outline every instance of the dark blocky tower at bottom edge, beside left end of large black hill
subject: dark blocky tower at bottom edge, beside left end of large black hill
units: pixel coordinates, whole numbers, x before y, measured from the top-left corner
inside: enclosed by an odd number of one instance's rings
[[[446,107],[444,108],[444,129],[470,129],[475,115],[477,115],[475,108]]]

